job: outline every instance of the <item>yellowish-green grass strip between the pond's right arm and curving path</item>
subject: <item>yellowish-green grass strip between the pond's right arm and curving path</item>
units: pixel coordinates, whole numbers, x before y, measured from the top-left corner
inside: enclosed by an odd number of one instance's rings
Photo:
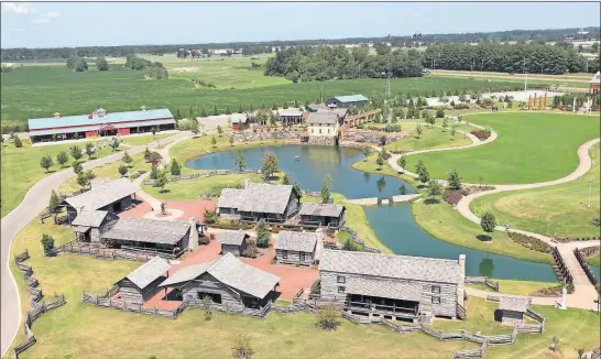
[[[429,235],[457,244],[484,252],[507,255],[526,261],[548,263],[549,254],[535,252],[512,241],[504,232],[488,233],[491,241],[482,241],[477,236],[484,232],[479,225],[461,216],[449,204],[439,199],[438,204],[414,203],[412,214],[419,227]]]

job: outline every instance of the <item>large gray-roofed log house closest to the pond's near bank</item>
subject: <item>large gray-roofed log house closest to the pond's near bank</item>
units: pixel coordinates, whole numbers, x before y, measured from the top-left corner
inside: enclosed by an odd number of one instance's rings
[[[221,191],[217,210],[230,219],[284,222],[298,213],[300,195],[291,185],[251,183],[245,189]]]

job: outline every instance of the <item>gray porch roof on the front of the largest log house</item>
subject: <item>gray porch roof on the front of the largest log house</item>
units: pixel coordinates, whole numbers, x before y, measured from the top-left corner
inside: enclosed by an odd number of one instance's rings
[[[384,279],[354,276],[347,279],[347,293],[394,298],[401,301],[419,302],[422,297],[422,284],[398,283]]]

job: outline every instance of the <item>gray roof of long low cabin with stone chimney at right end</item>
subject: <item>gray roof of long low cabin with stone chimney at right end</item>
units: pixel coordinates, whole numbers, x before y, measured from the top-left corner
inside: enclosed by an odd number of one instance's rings
[[[190,225],[181,220],[120,218],[102,238],[175,244],[189,229]]]

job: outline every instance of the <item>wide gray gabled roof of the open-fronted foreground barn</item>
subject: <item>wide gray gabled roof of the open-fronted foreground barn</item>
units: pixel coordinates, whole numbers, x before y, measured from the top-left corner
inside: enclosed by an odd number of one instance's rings
[[[277,275],[245,264],[232,253],[227,253],[215,262],[184,266],[161,283],[161,286],[192,281],[205,272],[219,282],[258,298],[264,298],[281,280]]]

